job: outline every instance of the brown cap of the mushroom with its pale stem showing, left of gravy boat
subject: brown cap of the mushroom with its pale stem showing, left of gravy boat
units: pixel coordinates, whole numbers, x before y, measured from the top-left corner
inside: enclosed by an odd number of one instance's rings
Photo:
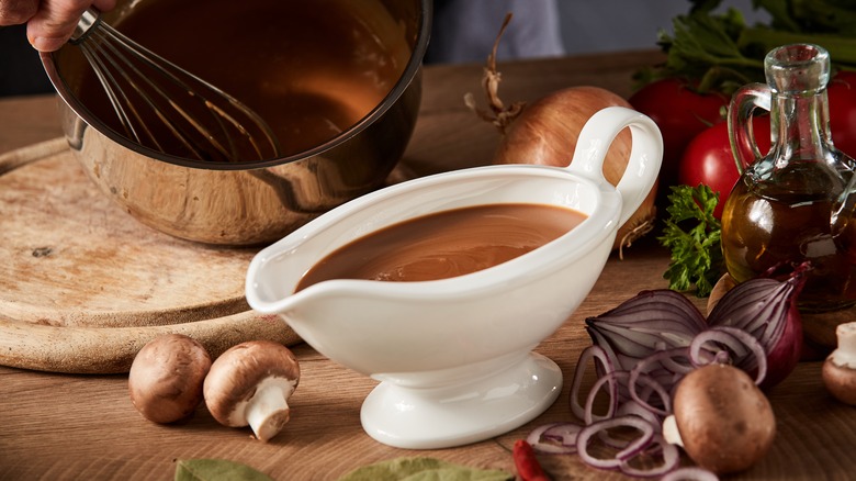
[[[248,340],[230,347],[211,366],[203,387],[205,404],[218,423],[246,426],[247,418],[239,411],[262,382],[288,385],[288,398],[297,388],[300,377],[300,365],[291,349],[271,340]]]

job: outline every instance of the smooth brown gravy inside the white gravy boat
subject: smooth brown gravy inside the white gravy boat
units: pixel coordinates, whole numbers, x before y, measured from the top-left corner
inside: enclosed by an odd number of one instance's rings
[[[586,215],[547,204],[487,204],[429,214],[382,228],[333,251],[295,291],[329,279],[427,281],[475,272],[533,250]]]

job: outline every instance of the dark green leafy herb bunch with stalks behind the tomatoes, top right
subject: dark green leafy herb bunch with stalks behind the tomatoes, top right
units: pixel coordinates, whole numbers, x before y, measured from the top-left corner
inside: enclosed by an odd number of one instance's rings
[[[666,61],[634,75],[637,88],[665,77],[695,80],[699,91],[731,94],[763,82],[764,57],[790,43],[822,45],[833,68],[856,69],[856,0],[753,0],[769,14],[748,25],[740,10],[717,12],[721,0],[690,0],[687,14],[672,19],[674,33],[661,30],[657,44]]]

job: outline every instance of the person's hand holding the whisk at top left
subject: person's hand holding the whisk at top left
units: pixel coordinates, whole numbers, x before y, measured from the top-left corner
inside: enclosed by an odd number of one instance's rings
[[[26,23],[26,37],[40,52],[61,47],[91,5],[112,10],[116,0],[0,0],[0,26]]]

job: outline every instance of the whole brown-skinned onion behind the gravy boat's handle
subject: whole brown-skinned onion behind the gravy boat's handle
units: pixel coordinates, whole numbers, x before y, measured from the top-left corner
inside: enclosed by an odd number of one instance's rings
[[[494,156],[494,164],[568,166],[583,125],[607,107],[632,109],[622,97],[590,86],[562,89],[527,104],[519,115],[502,128],[505,136]],[[604,177],[612,186],[621,180],[631,145],[630,131],[626,130],[616,137],[607,152]],[[630,245],[651,230],[656,214],[656,190],[655,184],[637,212],[619,228],[613,249]]]

